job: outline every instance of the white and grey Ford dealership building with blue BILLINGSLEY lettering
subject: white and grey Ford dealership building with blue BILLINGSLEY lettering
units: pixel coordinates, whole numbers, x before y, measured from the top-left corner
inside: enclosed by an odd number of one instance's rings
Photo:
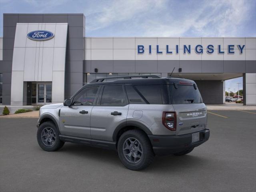
[[[204,102],[212,104],[225,102],[225,80],[243,76],[244,104],[256,105],[255,37],[85,34],[83,14],[4,14],[0,103],[63,102],[95,78],[166,77],[175,68],[172,77],[195,80]]]

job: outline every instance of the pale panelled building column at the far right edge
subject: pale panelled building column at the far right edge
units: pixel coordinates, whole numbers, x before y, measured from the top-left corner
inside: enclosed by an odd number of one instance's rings
[[[256,73],[243,74],[244,105],[256,105]]]

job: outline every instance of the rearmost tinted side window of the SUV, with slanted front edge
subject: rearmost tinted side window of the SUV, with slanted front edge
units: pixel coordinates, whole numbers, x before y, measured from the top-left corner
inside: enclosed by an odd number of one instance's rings
[[[135,88],[146,98],[149,104],[162,104],[160,85],[137,85]]]

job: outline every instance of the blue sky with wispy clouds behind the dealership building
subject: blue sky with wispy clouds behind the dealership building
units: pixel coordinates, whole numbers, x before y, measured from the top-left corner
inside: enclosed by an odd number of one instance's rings
[[[3,13],[84,13],[86,36],[255,37],[255,10],[256,0],[0,0],[0,36]]]

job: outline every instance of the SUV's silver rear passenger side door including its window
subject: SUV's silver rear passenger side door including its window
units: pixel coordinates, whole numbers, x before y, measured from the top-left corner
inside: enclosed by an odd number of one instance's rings
[[[97,106],[92,108],[92,139],[112,141],[115,128],[119,124],[126,122],[128,108],[124,85],[103,86]]]

